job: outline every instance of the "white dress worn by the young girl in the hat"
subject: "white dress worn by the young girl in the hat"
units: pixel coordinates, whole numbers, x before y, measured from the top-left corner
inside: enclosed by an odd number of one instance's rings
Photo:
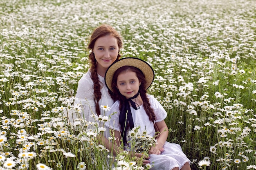
[[[147,95],[151,108],[153,108],[156,115],[155,122],[160,122],[167,117],[167,113],[162,107],[162,105],[153,97],[153,95]],[[146,129],[148,135],[152,137],[155,136],[155,128],[152,121],[149,120],[143,105],[139,106],[138,110],[131,108],[132,119],[134,126],[140,126],[141,130]],[[111,115],[112,113],[115,114]],[[105,125],[111,129],[121,131],[121,126],[119,124],[119,101],[115,102],[112,106],[108,115],[111,115],[110,121]],[[128,134],[128,133],[127,133]],[[153,166],[151,170],[171,170],[175,167],[182,168],[186,162],[190,163],[190,160],[183,153],[182,148],[178,144],[171,144],[165,142],[164,151],[160,155],[150,154],[150,164]]]

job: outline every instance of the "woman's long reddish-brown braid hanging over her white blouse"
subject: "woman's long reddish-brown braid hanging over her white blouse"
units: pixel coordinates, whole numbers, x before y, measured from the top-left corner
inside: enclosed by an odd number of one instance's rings
[[[98,77],[98,73],[96,70],[96,59],[94,57],[93,53],[90,53],[89,55],[90,59],[91,59],[91,67],[90,67],[90,71],[91,71],[91,79],[93,81],[93,90],[94,90],[94,102],[95,102],[95,106],[96,106],[96,113],[97,115],[100,115],[100,109],[99,109],[99,100],[101,99],[101,84],[99,81],[99,77]]]

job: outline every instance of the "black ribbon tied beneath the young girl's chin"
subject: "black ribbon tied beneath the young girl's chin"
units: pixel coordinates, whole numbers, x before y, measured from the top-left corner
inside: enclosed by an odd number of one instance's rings
[[[139,109],[139,105],[132,101],[132,99],[135,99],[136,97],[138,97],[138,95],[139,95],[139,92],[135,96],[130,97],[129,99],[126,99],[124,101],[124,106],[122,106],[120,109],[119,124],[121,125],[121,130],[122,130],[121,138],[122,138],[124,144],[127,143],[126,133],[127,133],[128,128],[129,127],[130,127],[130,129],[134,128],[130,104],[132,105],[132,108],[134,108],[135,110]],[[129,102],[130,102],[130,104],[129,104]],[[136,105],[138,106],[138,108]],[[126,113],[127,113],[127,117],[126,117]]]

